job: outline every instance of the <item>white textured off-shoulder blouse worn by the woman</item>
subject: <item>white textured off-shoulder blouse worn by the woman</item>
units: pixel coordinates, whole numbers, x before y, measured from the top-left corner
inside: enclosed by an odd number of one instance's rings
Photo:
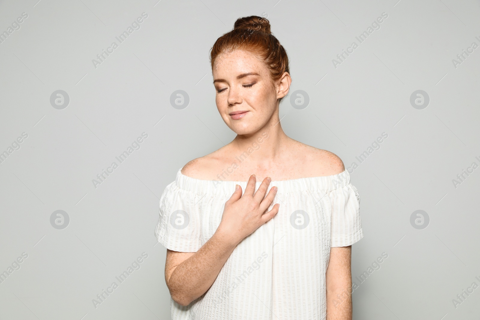
[[[155,235],[174,251],[195,252],[213,236],[235,184],[201,180],[181,168],[160,198]],[[257,181],[255,191],[260,186]],[[181,306],[170,298],[172,320],[324,320],[325,273],[330,247],[363,237],[360,196],[348,171],[315,178],[272,181],[276,216],[233,250],[204,295]]]

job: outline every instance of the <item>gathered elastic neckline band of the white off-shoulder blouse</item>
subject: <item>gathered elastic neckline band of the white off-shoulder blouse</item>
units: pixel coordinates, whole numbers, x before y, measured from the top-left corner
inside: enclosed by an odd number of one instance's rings
[[[202,180],[185,176],[180,168],[175,178],[175,184],[178,188],[192,191],[196,194],[228,195],[235,191],[235,185],[239,184],[242,191],[245,191],[248,181],[222,181],[222,180]],[[278,188],[277,194],[288,193],[292,191],[325,191],[329,192],[336,188],[345,187],[350,183],[350,175],[344,170],[336,175],[297,178],[289,180],[271,181],[268,185],[267,193],[273,186]],[[256,181],[255,190],[260,187],[262,181]]]

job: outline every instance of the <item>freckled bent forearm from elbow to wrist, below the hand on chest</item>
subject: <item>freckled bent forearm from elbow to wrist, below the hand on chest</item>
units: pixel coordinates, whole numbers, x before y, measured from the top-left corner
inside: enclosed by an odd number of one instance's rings
[[[182,306],[202,296],[214,283],[239,241],[220,228],[190,258],[180,263],[167,285],[173,300]]]

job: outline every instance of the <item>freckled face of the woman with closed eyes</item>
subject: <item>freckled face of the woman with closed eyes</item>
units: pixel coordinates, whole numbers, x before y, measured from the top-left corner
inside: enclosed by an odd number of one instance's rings
[[[276,112],[277,98],[283,96],[277,94],[264,63],[244,50],[218,55],[213,66],[213,79],[218,112],[237,134],[253,133],[263,128]],[[239,111],[243,113],[231,114]]]

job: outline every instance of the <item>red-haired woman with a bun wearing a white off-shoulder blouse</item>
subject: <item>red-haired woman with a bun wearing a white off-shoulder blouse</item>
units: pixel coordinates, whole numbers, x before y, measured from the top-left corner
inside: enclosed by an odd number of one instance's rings
[[[179,169],[161,196],[172,319],[351,320],[360,197],[340,158],[283,132],[285,49],[250,16],[210,58],[216,106],[237,136]]]

